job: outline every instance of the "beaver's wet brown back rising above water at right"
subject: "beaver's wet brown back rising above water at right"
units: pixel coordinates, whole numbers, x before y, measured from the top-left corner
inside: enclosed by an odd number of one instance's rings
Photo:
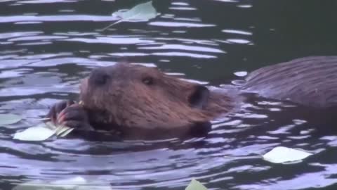
[[[298,58],[260,68],[246,77],[241,87],[272,99],[305,106],[337,106],[337,56]]]

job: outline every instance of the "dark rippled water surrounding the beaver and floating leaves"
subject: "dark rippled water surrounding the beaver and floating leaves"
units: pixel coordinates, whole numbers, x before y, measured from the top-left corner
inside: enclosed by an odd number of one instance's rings
[[[234,72],[337,54],[337,1],[162,0],[148,23],[98,31],[114,22],[112,12],[139,2],[0,1],[1,112],[43,117],[76,97],[91,68],[120,60],[218,85]],[[337,189],[337,122],[329,114],[253,98],[215,121],[205,139],[14,141],[39,122],[26,119],[0,128],[0,189],[74,176],[112,189],[185,189],[192,177],[209,189]],[[275,146],[315,155],[293,165],[244,158]]]

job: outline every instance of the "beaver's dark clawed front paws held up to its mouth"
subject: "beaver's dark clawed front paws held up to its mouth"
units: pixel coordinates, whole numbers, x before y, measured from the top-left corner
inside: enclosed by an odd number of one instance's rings
[[[55,125],[65,125],[76,129],[93,129],[89,123],[86,110],[74,101],[56,103],[47,114],[47,117],[51,118],[51,122]]]

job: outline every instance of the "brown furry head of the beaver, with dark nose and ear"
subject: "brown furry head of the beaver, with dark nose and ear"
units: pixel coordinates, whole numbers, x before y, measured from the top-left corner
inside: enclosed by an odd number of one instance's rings
[[[118,63],[96,68],[81,83],[81,101],[105,122],[170,129],[207,122],[232,109],[232,100],[157,68]]]

